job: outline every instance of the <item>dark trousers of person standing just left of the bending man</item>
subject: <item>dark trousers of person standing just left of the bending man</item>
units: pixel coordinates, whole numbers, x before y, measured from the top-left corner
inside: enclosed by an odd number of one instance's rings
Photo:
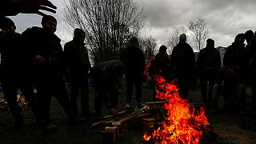
[[[71,94],[70,94],[70,105],[71,109],[74,110],[74,114],[78,114],[78,97],[80,90],[80,103],[82,109],[82,115],[88,114],[89,112],[89,88],[88,88],[88,77],[76,78],[76,81],[70,82]]]

